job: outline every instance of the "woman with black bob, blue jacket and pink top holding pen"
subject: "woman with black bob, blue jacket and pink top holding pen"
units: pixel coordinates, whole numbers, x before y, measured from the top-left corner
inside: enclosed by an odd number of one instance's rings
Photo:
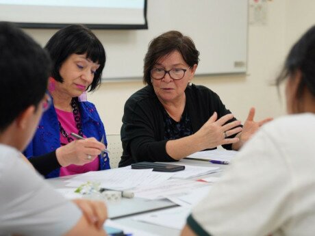
[[[33,140],[24,154],[46,178],[110,168],[103,122],[95,105],[84,99],[97,89],[105,66],[105,50],[83,25],[57,31],[45,49],[53,61],[49,101]],[[75,133],[84,137],[76,140]],[[103,142],[101,142],[103,141]],[[102,155],[101,155],[102,153]]]

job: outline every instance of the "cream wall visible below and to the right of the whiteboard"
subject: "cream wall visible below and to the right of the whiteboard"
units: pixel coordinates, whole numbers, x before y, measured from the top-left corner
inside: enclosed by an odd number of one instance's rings
[[[242,121],[247,118],[251,106],[256,107],[257,120],[284,114],[283,97],[282,102],[279,101],[277,89],[270,86],[270,81],[279,73],[294,40],[314,23],[314,7],[312,0],[268,1],[266,25],[249,25],[247,75],[196,77],[194,83],[217,92]],[[55,30],[43,29],[25,31],[42,45],[55,33]],[[97,106],[108,134],[120,132],[123,105],[142,86],[140,78],[138,81],[104,82],[97,92],[88,95],[88,100]]]

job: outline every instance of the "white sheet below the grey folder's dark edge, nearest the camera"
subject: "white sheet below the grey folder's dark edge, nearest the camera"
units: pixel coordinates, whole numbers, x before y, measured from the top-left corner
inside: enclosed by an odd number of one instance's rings
[[[135,216],[132,219],[181,230],[182,228],[184,228],[189,214],[190,208],[174,207],[171,209],[155,211],[152,213]]]

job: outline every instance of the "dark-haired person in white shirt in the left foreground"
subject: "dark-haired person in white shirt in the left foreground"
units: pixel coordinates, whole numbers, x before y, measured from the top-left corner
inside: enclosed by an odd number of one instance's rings
[[[49,107],[49,55],[3,22],[0,52],[0,235],[105,235],[103,202],[66,200],[21,157]]]

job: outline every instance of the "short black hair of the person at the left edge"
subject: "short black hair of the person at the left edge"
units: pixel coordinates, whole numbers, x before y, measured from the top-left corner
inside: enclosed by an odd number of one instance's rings
[[[21,29],[0,22],[0,132],[47,90],[51,70],[48,53]]]

